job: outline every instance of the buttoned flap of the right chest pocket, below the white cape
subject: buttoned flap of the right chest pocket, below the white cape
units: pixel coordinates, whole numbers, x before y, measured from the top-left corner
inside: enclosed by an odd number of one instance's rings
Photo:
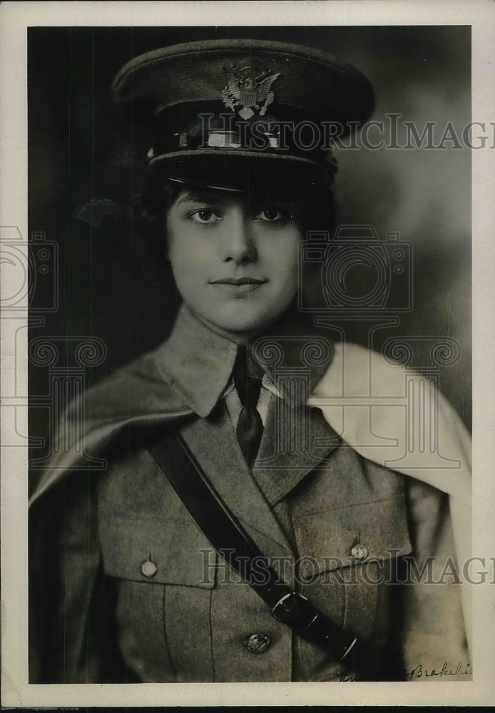
[[[369,558],[386,560],[412,551],[404,493],[384,501],[332,508],[294,520],[302,576],[337,570]],[[310,565],[310,566],[309,566]]]

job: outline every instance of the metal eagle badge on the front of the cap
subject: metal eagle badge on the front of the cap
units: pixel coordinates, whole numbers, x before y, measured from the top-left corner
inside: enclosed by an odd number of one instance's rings
[[[223,67],[227,78],[227,86],[222,90],[225,106],[237,111],[243,119],[252,116],[264,116],[268,106],[275,98],[272,84],[280,77],[280,72],[270,74],[268,71],[245,64],[237,67],[230,64]]]

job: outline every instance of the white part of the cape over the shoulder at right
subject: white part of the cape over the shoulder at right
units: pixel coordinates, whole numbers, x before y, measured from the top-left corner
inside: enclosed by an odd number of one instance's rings
[[[309,406],[357,453],[449,494],[462,580],[471,557],[471,439],[433,381],[357,344],[335,353]],[[471,649],[471,590],[462,582],[466,637]]]

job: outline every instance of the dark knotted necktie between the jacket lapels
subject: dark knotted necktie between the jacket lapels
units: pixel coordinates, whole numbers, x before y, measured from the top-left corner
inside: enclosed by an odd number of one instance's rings
[[[233,376],[242,409],[235,432],[238,436],[240,449],[250,468],[252,468],[252,463],[254,463],[260,448],[263,434],[263,422],[256,408],[260,398],[262,374],[260,365],[257,364],[248,349],[239,347]]]

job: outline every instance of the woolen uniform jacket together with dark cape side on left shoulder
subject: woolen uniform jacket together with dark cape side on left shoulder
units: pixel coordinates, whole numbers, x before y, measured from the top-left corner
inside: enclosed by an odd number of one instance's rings
[[[292,337],[277,356],[287,379],[266,367],[280,398],[252,471],[222,398],[237,346],[185,308],[165,344],[73,406],[71,447],[32,508],[31,682],[355,677],[277,622],[198,530],[150,455],[173,431],[287,583],[379,647],[384,679],[467,679],[448,498],[360,456],[306,406],[327,364],[303,369]]]

